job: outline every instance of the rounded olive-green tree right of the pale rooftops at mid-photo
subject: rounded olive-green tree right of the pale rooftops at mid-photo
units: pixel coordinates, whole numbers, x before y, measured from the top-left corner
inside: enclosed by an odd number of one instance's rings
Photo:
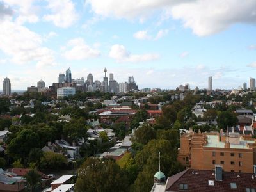
[[[148,141],[156,138],[156,131],[150,125],[141,125],[134,132],[132,141],[136,143],[141,143],[143,145],[147,144]]]

